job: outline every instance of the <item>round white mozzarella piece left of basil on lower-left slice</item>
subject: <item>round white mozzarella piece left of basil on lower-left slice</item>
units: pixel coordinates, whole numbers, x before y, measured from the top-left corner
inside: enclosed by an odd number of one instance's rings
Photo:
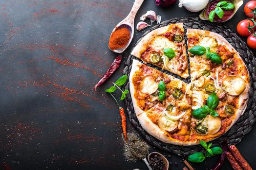
[[[158,83],[155,82],[152,76],[147,76],[140,84],[140,91],[145,94],[153,94],[158,89]]]

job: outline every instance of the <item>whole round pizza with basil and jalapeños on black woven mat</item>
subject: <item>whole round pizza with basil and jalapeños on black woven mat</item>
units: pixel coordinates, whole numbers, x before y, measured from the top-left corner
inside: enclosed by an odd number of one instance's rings
[[[147,34],[149,36],[141,40],[143,42],[132,54],[151,63],[142,56],[153,54],[154,51],[147,50],[155,49],[152,41],[162,37],[163,32],[169,33],[171,28],[176,28],[174,25]],[[248,69],[224,37],[196,29],[187,29],[186,36],[190,84],[135,59],[129,75],[131,99],[141,126],[150,135],[175,145],[196,145],[200,140],[207,142],[223,135],[245,111],[250,93]],[[174,51],[176,47],[172,46]],[[161,50],[157,54],[161,61],[165,58]],[[178,55],[187,56],[186,48],[182,54],[175,51],[171,60],[176,61]],[[161,62],[154,65],[169,70]],[[175,70],[171,72],[175,73]]]

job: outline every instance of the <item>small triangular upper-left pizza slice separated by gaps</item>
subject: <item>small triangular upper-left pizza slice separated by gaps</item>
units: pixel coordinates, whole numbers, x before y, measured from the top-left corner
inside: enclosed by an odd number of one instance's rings
[[[143,62],[189,77],[183,23],[158,28],[145,35],[131,52]]]

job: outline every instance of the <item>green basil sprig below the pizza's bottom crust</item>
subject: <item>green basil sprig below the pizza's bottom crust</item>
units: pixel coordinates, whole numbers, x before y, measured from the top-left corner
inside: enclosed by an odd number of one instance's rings
[[[203,162],[206,157],[211,157],[217,154],[221,154],[223,152],[223,150],[218,146],[211,148],[212,143],[209,143],[207,145],[207,143],[203,140],[200,140],[199,143],[205,149],[205,153],[197,152],[189,155],[188,160],[190,162],[195,162],[195,163]]]

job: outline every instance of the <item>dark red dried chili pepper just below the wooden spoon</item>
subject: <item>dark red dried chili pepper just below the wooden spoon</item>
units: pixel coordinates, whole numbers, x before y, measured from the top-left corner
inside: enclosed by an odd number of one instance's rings
[[[103,78],[97,83],[97,85],[94,86],[94,90],[96,91],[96,88],[102,84],[104,84],[110,77],[113,75],[113,73],[119,68],[120,63],[122,61],[122,54],[119,54],[114,62],[111,64],[111,66],[108,68],[107,72],[104,74]]]

